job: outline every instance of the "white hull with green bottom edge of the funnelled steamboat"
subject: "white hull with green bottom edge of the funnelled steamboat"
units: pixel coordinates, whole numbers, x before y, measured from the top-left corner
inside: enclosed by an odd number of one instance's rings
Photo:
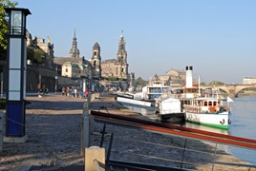
[[[193,113],[185,112],[185,121],[189,123],[203,124],[221,129],[228,129],[230,113]]]

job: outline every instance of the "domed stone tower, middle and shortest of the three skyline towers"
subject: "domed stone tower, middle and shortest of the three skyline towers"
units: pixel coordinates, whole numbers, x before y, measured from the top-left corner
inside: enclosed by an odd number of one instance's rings
[[[95,69],[95,76],[97,78],[101,77],[101,57],[100,57],[100,47],[96,42],[93,47],[93,57],[92,57],[92,66]]]

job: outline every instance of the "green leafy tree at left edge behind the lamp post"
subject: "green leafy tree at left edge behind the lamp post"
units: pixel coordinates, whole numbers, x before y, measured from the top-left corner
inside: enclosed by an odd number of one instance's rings
[[[0,60],[6,60],[8,46],[9,21],[5,8],[14,8],[17,4],[18,3],[16,1],[0,1]]]

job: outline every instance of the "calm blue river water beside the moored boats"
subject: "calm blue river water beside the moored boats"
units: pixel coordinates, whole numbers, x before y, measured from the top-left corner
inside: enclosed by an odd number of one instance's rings
[[[226,135],[243,137],[256,140],[256,97],[239,97],[231,103],[231,124],[228,130],[212,128],[194,123],[179,123],[180,126],[196,128]],[[128,108],[141,113],[144,116],[157,120],[153,108],[141,108],[133,105],[125,105]],[[241,160],[256,165],[256,150],[241,148],[233,145],[218,144],[218,148]]]

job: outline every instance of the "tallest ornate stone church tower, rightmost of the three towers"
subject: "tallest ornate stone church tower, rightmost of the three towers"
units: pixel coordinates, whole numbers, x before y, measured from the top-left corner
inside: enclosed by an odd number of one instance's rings
[[[122,79],[128,79],[128,64],[127,64],[127,52],[125,49],[125,40],[123,36],[123,31],[121,31],[118,50],[117,50],[117,66],[116,66],[116,74],[117,77]]]

